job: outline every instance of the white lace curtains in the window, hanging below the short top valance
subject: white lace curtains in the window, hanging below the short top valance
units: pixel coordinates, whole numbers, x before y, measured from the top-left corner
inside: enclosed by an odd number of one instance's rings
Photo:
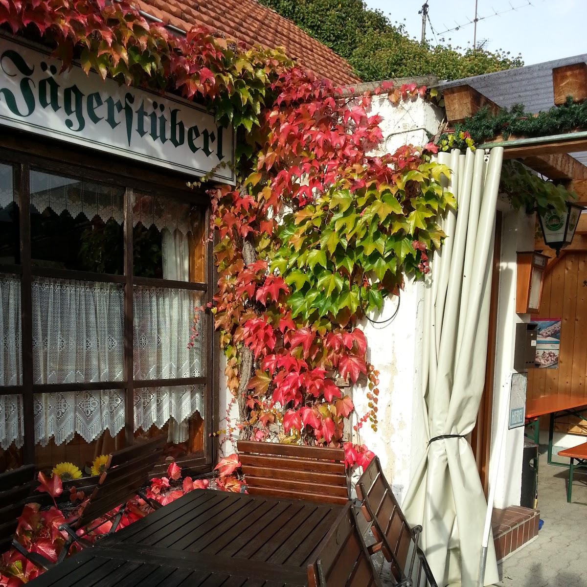
[[[188,278],[188,239],[180,231],[163,231],[164,277]],[[0,279],[0,383],[21,377],[20,282]],[[38,384],[120,381],[123,379],[123,287],[65,279],[35,279],[33,305],[33,380]],[[193,329],[203,330],[195,312],[201,292],[176,288],[134,288],[134,376],[136,379],[198,377],[205,373],[201,339],[188,348]],[[203,386],[136,389],[134,428],[148,430],[167,422],[168,440],[188,439],[187,420],[203,412]],[[21,396],[0,396],[0,446],[23,443]],[[124,390],[35,395],[35,442],[67,443],[75,433],[87,443],[108,429],[124,426]]]

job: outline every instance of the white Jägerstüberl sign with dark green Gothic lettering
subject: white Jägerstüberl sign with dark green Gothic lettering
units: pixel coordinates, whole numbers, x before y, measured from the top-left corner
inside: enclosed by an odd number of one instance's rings
[[[234,133],[203,107],[78,65],[60,69],[47,53],[0,37],[0,124],[235,183]]]

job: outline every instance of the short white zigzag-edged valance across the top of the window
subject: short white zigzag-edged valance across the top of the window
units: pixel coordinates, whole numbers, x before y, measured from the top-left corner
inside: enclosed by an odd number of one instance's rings
[[[6,197],[3,195],[2,199]],[[123,203],[124,190],[120,187],[31,171],[31,206],[39,213],[48,209],[55,214],[67,211],[72,218],[83,214],[88,220],[97,216],[104,222],[112,218],[122,224]],[[146,228],[154,226],[158,231],[167,228],[187,235],[191,231],[191,205],[174,198],[135,192],[133,225],[139,223]]]

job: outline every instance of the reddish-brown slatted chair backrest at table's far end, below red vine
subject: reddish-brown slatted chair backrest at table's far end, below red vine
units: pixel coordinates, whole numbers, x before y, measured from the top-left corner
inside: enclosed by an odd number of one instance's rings
[[[333,504],[349,500],[343,448],[245,440],[237,448],[251,495]]]

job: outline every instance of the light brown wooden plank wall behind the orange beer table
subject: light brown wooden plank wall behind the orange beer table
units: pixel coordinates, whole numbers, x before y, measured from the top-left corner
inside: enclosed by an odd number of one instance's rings
[[[536,318],[562,318],[558,369],[529,369],[528,397],[573,394],[587,399],[587,253],[569,252],[546,275]],[[546,419],[543,419],[545,425]],[[557,431],[587,434],[587,421],[568,419]]]

